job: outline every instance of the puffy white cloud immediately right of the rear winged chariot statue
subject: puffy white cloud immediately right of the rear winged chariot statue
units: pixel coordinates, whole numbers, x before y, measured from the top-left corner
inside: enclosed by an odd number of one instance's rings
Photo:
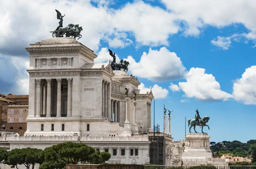
[[[180,58],[165,47],[159,51],[149,48],[148,54],[143,52],[140,62],[136,62],[132,56],[125,60],[130,63],[131,74],[152,81],[180,79],[186,71]]]

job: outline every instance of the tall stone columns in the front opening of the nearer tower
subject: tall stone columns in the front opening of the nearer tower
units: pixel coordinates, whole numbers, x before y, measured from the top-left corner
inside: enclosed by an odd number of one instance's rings
[[[61,83],[62,79],[56,79],[57,82],[57,110],[53,111],[53,87],[56,82],[53,79],[36,79],[35,103],[36,117],[70,117],[71,116],[71,83],[72,79],[67,79],[67,114],[61,113]],[[63,110],[62,110],[63,111]]]

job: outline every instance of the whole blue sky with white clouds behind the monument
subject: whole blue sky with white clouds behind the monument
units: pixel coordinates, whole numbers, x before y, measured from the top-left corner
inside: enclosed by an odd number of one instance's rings
[[[162,131],[163,104],[173,111],[174,140],[184,138],[185,116],[195,118],[196,108],[210,116],[210,141],[256,139],[256,2],[1,1],[0,93],[28,94],[24,48],[51,37],[55,8],[66,14],[63,25],[83,26],[79,41],[99,54],[95,62],[111,59],[110,48],[131,63],[140,88],[153,89]]]

